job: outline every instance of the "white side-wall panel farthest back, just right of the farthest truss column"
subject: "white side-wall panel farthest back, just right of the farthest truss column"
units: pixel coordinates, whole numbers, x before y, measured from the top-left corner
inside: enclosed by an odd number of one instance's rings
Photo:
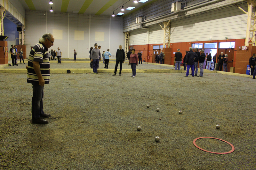
[[[147,29],[139,29],[130,33],[129,44],[131,45],[145,45],[147,44]]]

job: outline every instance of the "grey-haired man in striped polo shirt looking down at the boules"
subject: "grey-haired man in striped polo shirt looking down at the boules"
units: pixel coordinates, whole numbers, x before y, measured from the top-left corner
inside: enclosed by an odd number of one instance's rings
[[[45,114],[43,111],[44,84],[49,84],[50,80],[50,63],[47,55],[48,48],[53,46],[54,37],[50,33],[44,34],[30,51],[28,57],[28,75],[27,82],[33,85],[32,97],[32,123],[46,124]]]

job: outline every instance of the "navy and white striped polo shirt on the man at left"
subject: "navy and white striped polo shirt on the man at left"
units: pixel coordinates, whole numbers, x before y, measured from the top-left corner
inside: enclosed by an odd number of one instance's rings
[[[36,44],[30,51],[28,57],[28,75],[27,82],[32,84],[38,84],[38,78],[33,67],[33,61],[39,62],[41,74],[44,78],[44,84],[49,84],[50,80],[50,63],[47,55],[47,48],[44,44]]]

